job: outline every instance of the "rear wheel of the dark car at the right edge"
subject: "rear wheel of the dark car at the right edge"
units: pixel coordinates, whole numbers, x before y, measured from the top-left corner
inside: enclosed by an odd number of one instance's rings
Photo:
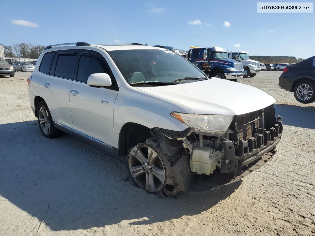
[[[294,88],[295,99],[304,104],[315,101],[315,83],[310,80],[298,82]]]

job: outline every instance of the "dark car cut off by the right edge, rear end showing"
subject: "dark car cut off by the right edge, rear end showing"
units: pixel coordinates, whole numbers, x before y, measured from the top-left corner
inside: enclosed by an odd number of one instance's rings
[[[315,101],[315,56],[287,65],[279,77],[279,86],[293,92],[300,103]]]

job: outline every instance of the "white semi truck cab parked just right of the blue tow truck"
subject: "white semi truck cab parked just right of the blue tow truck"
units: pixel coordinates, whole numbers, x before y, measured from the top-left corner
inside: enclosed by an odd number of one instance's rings
[[[261,71],[260,62],[249,59],[248,52],[229,52],[228,58],[242,63],[244,78],[254,77]]]

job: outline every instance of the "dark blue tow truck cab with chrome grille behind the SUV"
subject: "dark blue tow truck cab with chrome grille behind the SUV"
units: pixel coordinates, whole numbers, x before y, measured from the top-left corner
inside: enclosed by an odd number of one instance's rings
[[[191,48],[188,60],[208,76],[231,81],[243,78],[242,63],[229,59],[225,48]]]

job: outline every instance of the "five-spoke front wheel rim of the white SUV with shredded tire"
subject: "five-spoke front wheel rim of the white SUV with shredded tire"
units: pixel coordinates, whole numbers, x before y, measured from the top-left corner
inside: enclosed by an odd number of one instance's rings
[[[140,144],[131,149],[129,171],[135,182],[148,192],[161,190],[165,182],[165,168],[159,155],[149,146]]]

